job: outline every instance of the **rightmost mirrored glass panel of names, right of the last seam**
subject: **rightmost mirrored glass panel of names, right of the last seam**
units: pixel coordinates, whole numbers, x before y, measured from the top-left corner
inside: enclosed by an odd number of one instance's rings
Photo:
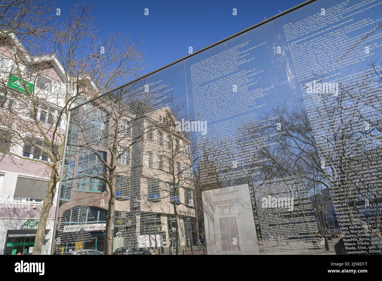
[[[320,235],[336,254],[381,254],[382,6],[315,1],[274,19],[311,171]]]

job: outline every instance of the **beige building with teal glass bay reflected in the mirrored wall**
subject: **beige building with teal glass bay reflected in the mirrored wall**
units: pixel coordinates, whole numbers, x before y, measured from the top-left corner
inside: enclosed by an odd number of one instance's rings
[[[107,119],[111,113],[103,105],[84,106],[76,113],[71,115],[68,134],[57,249],[102,252],[110,200],[104,177],[105,163],[111,161],[108,132],[112,122]],[[196,243],[190,142],[173,130],[173,123],[169,107],[143,118],[126,110],[118,120],[113,252],[148,248],[165,253],[175,248],[174,203],[180,246]],[[74,226],[71,231],[69,226]]]

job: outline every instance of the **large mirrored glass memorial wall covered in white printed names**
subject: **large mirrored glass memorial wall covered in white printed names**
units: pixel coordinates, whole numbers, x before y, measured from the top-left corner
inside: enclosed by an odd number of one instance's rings
[[[71,110],[52,252],[381,254],[381,11],[312,1]]]

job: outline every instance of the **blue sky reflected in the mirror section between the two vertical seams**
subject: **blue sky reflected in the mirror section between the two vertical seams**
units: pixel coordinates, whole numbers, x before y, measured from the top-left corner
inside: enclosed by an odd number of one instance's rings
[[[278,47],[274,24],[269,22],[186,59],[191,120],[208,122],[207,135],[195,133],[198,143],[204,137],[234,138],[239,127],[264,118],[264,113],[278,104],[294,107]],[[220,62],[222,57],[224,62]],[[198,69],[200,65],[202,71]],[[215,69],[215,65],[220,68]],[[195,81],[191,69],[210,79]],[[225,71],[227,74],[223,74]],[[200,99],[206,102],[201,103]]]

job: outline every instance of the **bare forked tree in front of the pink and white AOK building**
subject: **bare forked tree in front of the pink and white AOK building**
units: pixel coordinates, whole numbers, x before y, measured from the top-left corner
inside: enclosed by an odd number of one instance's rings
[[[49,177],[33,254],[42,247],[47,216],[53,205],[64,148],[64,128],[74,105],[115,88],[121,80],[136,76],[141,69],[139,42],[112,34],[98,39],[91,6],[74,6],[62,16],[47,37],[46,49],[39,57],[15,44],[10,53],[9,74],[2,79],[0,125],[11,132],[11,146],[23,146],[20,155],[11,149],[3,151],[14,160],[25,159],[44,164]],[[10,40],[7,38],[6,40]],[[34,49],[36,54],[36,49]],[[10,83],[13,85],[10,85]],[[11,104],[10,104],[10,101]]]

